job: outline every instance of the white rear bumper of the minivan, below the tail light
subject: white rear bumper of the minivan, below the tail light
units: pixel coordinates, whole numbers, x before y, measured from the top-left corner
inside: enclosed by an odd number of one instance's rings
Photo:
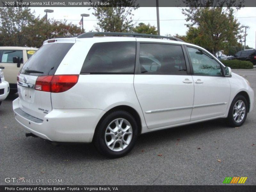
[[[105,113],[100,109],[52,109],[40,120],[22,111],[19,98],[12,104],[15,119],[27,131],[56,142],[92,142],[96,125]]]

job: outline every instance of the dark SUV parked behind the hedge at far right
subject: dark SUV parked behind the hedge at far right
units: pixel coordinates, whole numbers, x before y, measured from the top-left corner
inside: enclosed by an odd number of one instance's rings
[[[228,58],[228,60],[238,59],[242,61],[251,61],[253,65],[256,65],[256,50],[246,49],[244,51],[237,52],[234,56]]]

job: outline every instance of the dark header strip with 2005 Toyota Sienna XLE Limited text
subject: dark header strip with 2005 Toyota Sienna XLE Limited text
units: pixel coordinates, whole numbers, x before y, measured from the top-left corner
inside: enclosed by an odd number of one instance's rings
[[[122,0],[1,0],[0,7],[117,7]],[[130,0],[128,6],[156,7],[156,0]],[[127,4],[123,5],[127,7]],[[255,7],[255,0],[159,0],[159,7]]]

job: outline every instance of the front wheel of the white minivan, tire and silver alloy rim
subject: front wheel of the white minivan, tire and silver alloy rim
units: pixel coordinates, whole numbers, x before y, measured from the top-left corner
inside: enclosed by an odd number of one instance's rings
[[[239,127],[244,124],[248,113],[248,102],[242,95],[237,95],[232,101],[229,112],[227,123],[231,127]]]

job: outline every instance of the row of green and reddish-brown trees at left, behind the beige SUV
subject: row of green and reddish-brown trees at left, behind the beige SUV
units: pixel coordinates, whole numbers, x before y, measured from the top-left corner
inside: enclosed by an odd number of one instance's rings
[[[0,45],[40,47],[47,39],[75,36],[82,29],[67,21],[35,18],[27,7],[0,8]]]

